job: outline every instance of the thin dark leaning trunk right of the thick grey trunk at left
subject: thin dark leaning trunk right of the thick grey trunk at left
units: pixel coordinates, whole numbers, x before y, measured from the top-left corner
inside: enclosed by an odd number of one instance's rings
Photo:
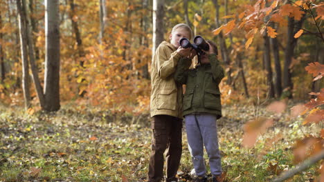
[[[76,16],[74,0],[68,0],[68,2],[70,5],[70,8],[71,8],[71,10],[69,11],[69,17],[71,19],[73,33],[75,34],[75,41],[76,41],[77,47],[78,47],[78,54],[79,54],[79,57],[82,58],[82,57],[84,57],[84,49],[82,46],[82,39],[81,39],[81,35],[80,35],[78,21],[73,19],[73,17]],[[83,63],[84,63],[84,61],[81,60],[80,65],[82,68],[83,68]]]

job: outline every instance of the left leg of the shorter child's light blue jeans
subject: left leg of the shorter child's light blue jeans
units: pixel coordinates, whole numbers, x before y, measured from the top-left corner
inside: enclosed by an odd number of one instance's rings
[[[205,176],[204,145],[196,114],[186,115],[185,120],[189,150],[196,175]]]

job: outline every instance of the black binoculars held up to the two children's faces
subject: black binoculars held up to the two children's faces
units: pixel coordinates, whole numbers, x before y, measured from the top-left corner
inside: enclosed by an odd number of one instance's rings
[[[194,50],[196,50],[198,55],[204,54],[202,50],[209,50],[208,43],[200,35],[197,35],[194,38],[194,43],[190,43],[187,38],[182,38],[180,39],[179,44],[182,48],[193,48]]]

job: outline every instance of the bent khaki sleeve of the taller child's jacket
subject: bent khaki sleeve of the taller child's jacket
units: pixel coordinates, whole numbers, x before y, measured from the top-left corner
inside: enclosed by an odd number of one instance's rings
[[[177,63],[181,57],[177,52],[172,52],[171,56],[168,57],[167,45],[159,46],[156,50],[156,69],[161,79],[168,78],[172,73],[174,73]]]

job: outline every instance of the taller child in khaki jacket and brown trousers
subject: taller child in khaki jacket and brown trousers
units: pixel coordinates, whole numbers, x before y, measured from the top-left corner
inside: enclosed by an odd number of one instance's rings
[[[192,30],[184,23],[177,24],[170,34],[170,43],[163,41],[152,59],[152,92],[150,113],[152,117],[152,150],[148,181],[163,179],[163,153],[166,161],[166,182],[177,181],[182,140],[182,85],[174,81],[174,71],[181,57],[192,58],[190,48],[181,48],[181,38],[191,39]]]

